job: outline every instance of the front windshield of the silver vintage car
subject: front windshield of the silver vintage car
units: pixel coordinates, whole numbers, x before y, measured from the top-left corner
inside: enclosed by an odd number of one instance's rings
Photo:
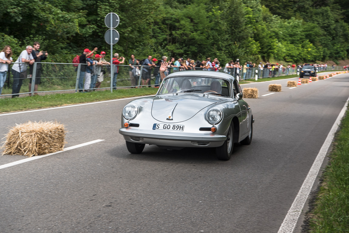
[[[229,81],[213,77],[176,76],[165,79],[158,94],[166,93],[207,93],[230,97]]]

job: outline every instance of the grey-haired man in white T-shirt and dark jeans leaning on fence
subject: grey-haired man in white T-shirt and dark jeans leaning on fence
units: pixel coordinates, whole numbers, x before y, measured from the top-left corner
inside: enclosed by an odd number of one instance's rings
[[[24,62],[22,64],[14,64],[12,66],[13,84],[12,94],[20,93],[22,81],[27,78],[27,68],[29,65],[34,63],[34,58],[31,55],[33,47],[28,45],[25,50],[21,52],[16,62]],[[12,98],[18,97],[19,95],[12,95]]]

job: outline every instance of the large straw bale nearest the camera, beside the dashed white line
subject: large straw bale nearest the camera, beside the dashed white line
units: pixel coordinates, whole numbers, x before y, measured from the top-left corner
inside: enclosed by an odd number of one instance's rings
[[[2,155],[45,155],[63,150],[66,130],[57,121],[16,124],[10,128]]]

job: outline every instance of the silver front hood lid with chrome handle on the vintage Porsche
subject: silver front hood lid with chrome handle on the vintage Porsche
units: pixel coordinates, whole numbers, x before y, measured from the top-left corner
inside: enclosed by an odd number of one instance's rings
[[[221,101],[215,97],[202,97],[189,93],[178,96],[157,96],[153,99],[151,115],[158,121],[176,123],[188,120],[203,108]],[[170,115],[172,120],[167,120]]]

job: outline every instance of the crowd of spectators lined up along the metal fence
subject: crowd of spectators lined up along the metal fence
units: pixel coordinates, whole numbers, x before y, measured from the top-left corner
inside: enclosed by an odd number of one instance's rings
[[[97,52],[98,48],[94,48],[92,51],[88,48],[84,49],[80,56],[77,56],[76,62],[80,63],[80,75],[78,80],[79,92],[89,92],[92,89],[98,89],[101,87],[101,83],[104,81],[104,75],[106,71],[110,70],[110,62],[105,60],[106,53],[104,51],[100,54],[94,54]],[[10,46],[5,46],[0,52],[0,94],[2,92],[3,84],[6,81],[6,73],[8,71],[8,65],[13,62],[12,60],[12,49]],[[30,78],[29,82],[29,92],[31,92],[31,75],[33,73],[34,62],[41,62],[46,60],[48,56],[47,51],[40,51],[40,43],[34,42],[33,46],[27,46],[25,50],[21,52],[16,62],[23,62],[22,64],[14,64],[12,66],[13,74],[13,86],[12,86],[12,98],[17,97],[20,92],[22,81],[24,78]],[[220,63],[217,58],[211,60],[207,58],[204,60],[193,60],[190,57],[186,59],[173,57],[168,58],[166,56],[161,57],[161,59],[153,58],[148,56],[146,59],[140,60],[136,59],[134,54],[131,54],[131,58],[128,63],[125,57],[119,57],[118,53],[115,53],[112,59],[113,74],[112,74],[112,87],[116,89],[117,87],[117,77],[119,74],[120,65],[128,65],[128,75],[131,80],[132,88],[138,88],[139,77],[142,77],[141,84],[143,87],[150,87],[151,76],[155,78],[155,88],[159,87],[161,83],[161,77],[159,73],[159,67],[162,62],[168,62],[168,69],[165,72],[165,76],[179,72],[183,70],[207,70],[213,72],[224,72],[238,77],[240,80],[246,80],[248,78],[253,78],[254,74],[258,74],[258,77],[274,77],[277,75],[285,74],[288,75],[294,72],[295,69],[301,68],[303,65],[287,65],[284,66],[282,63],[265,63],[259,62],[256,66],[255,63],[247,61],[240,64],[239,59],[236,61],[230,60],[224,66]],[[313,64],[317,67],[318,71],[327,70],[327,63],[323,64]],[[77,66],[77,65],[76,65]],[[142,68],[141,68],[142,66]],[[347,66],[349,68],[349,65]],[[345,67],[345,68],[347,68]],[[29,72],[27,69],[29,68]],[[34,91],[38,89],[38,84],[40,84],[42,74],[42,64],[38,63],[36,66],[36,79]],[[29,94],[30,95],[30,94]]]

